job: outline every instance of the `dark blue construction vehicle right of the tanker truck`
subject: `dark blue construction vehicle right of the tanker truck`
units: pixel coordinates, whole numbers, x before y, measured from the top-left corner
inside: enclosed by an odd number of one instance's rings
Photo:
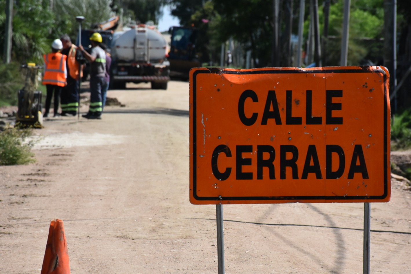
[[[170,76],[188,79],[193,67],[201,67],[201,54],[198,53],[197,31],[189,27],[171,27]]]

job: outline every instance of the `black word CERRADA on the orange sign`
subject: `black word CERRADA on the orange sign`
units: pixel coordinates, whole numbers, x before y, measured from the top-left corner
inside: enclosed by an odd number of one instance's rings
[[[256,146],[256,173],[257,180],[263,179],[263,168],[268,168],[268,177],[270,180],[275,180],[275,149],[271,145],[257,145]],[[298,148],[294,145],[280,145],[280,156],[277,160],[277,166],[280,168],[280,179],[286,179],[286,168],[289,167],[292,170],[293,179],[299,179],[299,172],[297,166],[297,160],[299,157]],[[244,154],[252,154],[252,145],[237,145],[236,146],[236,180],[253,180],[254,175],[252,172],[243,172],[243,166],[251,166],[252,158],[244,157]],[[244,154],[243,154],[244,153]],[[332,154],[338,155],[338,168],[332,170]],[[212,152],[211,168],[214,176],[221,181],[227,180],[231,175],[232,167],[218,167],[218,157],[221,154],[225,154],[226,157],[232,157],[231,149],[226,145],[218,145]],[[255,155],[255,154],[253,154]],[[287,157],[288,155],[288,157]],[[291,155],[291,157],[289,157]],[[268,157],[267,157],[268,156]],[[324,160],[324,159],[323,159]],[[279,163],[278,163],[279,162]],[[357,165],[357,162],[359,163]],[[311,164],[312,163],[312,164]],[[325,171],[326,179],[338,179],[343,176],[346,167],[346,157],[344,150],[339,145],[326,145],[326,159],[325,159]],[[305,154],[304,166],[302,168],[301,179],[307,179],[309,173],[314,173],[316,179],[323,179],[319,157],[317,154],[315,145],[308,145],[307,152]],[[355,145],[351,161],[348,170],[348,179],[353,179],[355,173],[361,173],[363,179],[369,179],[367,166],[365,164],[365,158],[363,153],[363,147],[361,145]]]

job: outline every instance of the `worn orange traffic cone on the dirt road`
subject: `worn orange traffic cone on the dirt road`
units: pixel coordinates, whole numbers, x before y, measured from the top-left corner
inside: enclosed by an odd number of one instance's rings
[[[70,274],[69,251],[62,220],[55,219],[50,223],[41,274]]]

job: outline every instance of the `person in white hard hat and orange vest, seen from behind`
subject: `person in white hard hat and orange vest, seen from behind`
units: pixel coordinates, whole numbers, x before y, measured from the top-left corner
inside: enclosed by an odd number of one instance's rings
[[[67,84],[66,56],[60,53],[63,44],[60,39],[55,39],[51,44],[51,53],[44,54],[44,76],[43,85],[46,85],[46,108],[43,117],[48,117],[51,98],[54,93],[54,117],[60,116],[58,106],[62,87]]]

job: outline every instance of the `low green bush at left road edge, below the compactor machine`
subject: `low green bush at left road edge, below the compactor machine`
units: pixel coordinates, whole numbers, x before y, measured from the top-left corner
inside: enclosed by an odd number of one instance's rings
[[[23,165],[35,162],[31,148],[35,141],[26,139],[32,136],[32,129],[10,128],[0,132],[0,166]]]

